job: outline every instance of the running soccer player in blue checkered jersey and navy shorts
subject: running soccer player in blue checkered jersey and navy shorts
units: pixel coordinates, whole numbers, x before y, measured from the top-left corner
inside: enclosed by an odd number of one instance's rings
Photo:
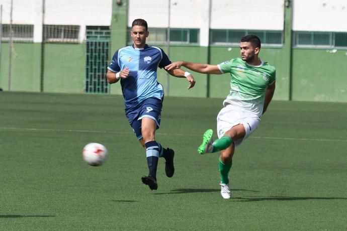
[[[169,148],[164,149],[155,140],[164,97],[163,87],[157,82],[157,68],[163,68],[171,61],[162,49],[146,44],[149,32],[145,20],[135,19],[130,35],[133,45],[116,51],[107,68],[107,80],[110,84],[121,82],[126,117],[137,139],[146,150],[149,174],[142,176],[141,180],[151,190],[156,190],[159,157],[165,159],[167,177],[172,177],[175,172],[173,166],[175,152]],[[189,72],[182,69],[167,72],[175,77],[186,78],[189,81],[188,89],[195,85],[194,77]]]

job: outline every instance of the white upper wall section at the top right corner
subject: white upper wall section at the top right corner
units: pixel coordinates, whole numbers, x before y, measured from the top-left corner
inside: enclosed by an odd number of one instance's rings
[[[346,0],[295,0],[294,31],[347,32]]]

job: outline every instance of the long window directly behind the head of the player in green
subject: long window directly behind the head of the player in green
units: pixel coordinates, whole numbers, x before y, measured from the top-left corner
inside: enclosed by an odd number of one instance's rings
[[[282,46],[282,31],[258,31],[258,30],[227,30],[211,29],[210,43],[212,45],[238,45],[243,36],[253,34],[262,42],[262,46]]]

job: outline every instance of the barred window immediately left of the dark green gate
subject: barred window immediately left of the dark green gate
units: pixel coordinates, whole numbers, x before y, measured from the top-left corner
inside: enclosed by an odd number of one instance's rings
[[[44,41],[49,43],[78,43],[79,26],[44,25]]]

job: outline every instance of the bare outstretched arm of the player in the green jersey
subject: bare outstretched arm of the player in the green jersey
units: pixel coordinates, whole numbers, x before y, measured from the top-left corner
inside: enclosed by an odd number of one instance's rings
[[[165,66],[166,70],[173,70],[187,67],[192,71],[196,71],[203,74],[222,74],[217,65],[204,64],[204,63],[192,63],[187,61],[177,61]]]

